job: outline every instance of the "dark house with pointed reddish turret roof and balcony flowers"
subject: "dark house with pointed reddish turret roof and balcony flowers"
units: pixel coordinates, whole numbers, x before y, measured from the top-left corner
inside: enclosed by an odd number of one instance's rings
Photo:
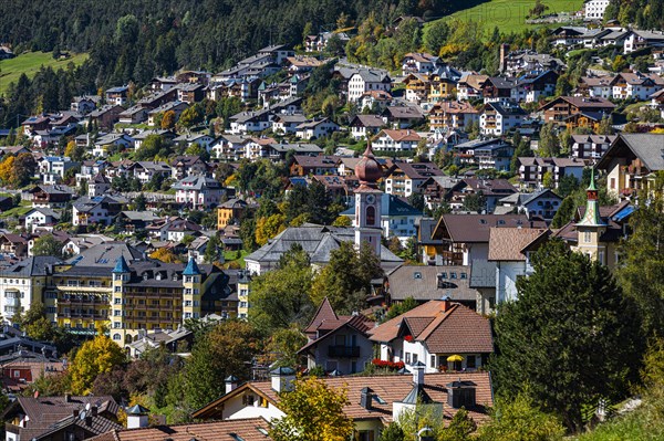
[[[369,330],[374,322],[362,314],[338,315],[325,297],[304,328],[308,342],[298,351],[307,366],[323,367],[328,372],[356,374],[371,364],[373,344]]]

